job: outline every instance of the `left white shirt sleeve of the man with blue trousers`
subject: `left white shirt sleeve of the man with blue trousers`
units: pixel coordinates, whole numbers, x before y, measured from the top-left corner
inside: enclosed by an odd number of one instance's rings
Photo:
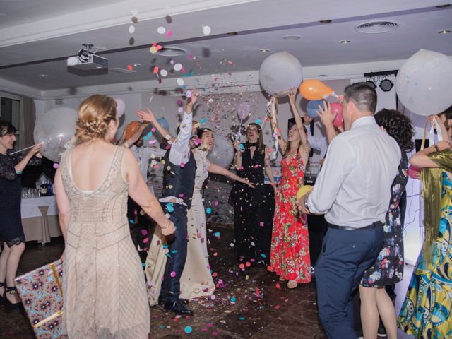
[[[340,186],[355,166],[352,147],[342,138],[334,138],[328,148],[325,163],[316,179],[314,190],[307,198],[311,213],[326,214],[333,206]]]

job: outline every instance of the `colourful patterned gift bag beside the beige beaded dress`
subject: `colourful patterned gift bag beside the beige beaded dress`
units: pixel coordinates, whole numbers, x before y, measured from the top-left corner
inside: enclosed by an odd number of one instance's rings
[[[63,290],[60,260],[15,279],[23,306],[38,339],[67,338],[61,326]]]

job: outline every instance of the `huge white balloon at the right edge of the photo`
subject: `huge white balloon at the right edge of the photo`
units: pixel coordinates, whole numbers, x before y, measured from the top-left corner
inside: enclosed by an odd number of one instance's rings
[[[396,93],[405,107],[419,115],[444,112],[452,105],[452,60],[420,49],[400,67]]]

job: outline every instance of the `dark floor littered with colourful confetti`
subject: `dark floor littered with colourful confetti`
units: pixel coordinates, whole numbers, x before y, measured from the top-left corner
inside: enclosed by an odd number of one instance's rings
[[[230,247],[232,228],[225,225],[210,228],[210,265],[216,273],[215,283],[222,280],[215,299],[190,302],[189,307],[195,311],[191,318],[165,314],[162,307],[152,307],[150,338],[326,338],[317,318],[314,282],[288,290],[262,264],[253,263],[242,271]],[[220,232],[220,237],[214,237],[215,232]],[[52,239],[44,247],[28,243],[20,273],[56,260],[62,250],[61,238]],[[408,272],[407,276],[410,275]],[[408,280],[405,278],[405,284],[397,287],[400,300]],[[231,302],[233,298],[235,302]],[[396,305],[400,308],[400,301]],[[0,338],[35,338],[22,311],[0,307],[0,321]],[[192,329],[190,334],[185,333],[187,326]],[[411,337],[400,332],[399,338]]]

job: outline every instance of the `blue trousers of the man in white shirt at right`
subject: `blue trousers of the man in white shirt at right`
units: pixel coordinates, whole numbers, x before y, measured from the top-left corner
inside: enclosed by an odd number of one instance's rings
[[[316,287],[319,318],[330,339],[357,339],[351,295],[383,246],[383,224],[377,225],[326,231],[316,263]]]

